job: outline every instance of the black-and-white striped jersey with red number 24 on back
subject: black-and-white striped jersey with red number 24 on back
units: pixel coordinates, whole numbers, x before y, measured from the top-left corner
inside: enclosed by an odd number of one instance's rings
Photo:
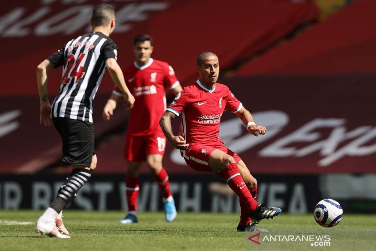
[[[106,70],[106,60],[117,59],[117,45],[101,32],[89,32],[69,41],[49,56],[55,68],[63,65],[59,94],[52,117],[92,123],[92,101]]]

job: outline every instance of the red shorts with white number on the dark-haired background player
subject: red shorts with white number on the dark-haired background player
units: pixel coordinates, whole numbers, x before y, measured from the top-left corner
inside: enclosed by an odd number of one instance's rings
[[[146,161],[146,155],[164,155],[166,137],[163,132],[155,132],[147,136],[126,135],[124,158],[129,161]]]

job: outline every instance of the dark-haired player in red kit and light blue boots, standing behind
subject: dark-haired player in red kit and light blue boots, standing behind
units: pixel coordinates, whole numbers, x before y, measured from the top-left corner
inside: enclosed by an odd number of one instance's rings
[[[173,68],[167,63],[151,58],[153,39],[140,34],[134,39],[133,52],[136,61],[123,69],[124,78],[135,97],[127,126],[124,157],[127,161],[126,196],[128,214],[119,222],[138,222],[137,197],[139,192],[139,170],[146,161],[164,202],[165,219],[170,222],[176,217],[175,203],[171,195],[170,182],[162,167],[166,138],[158,125],[166,110],[165,90],[169,88],[176,95],[182,90]],[[109,120],[117,103],[122,99],[120,89],[115,86],[103,109],[103,118]]]

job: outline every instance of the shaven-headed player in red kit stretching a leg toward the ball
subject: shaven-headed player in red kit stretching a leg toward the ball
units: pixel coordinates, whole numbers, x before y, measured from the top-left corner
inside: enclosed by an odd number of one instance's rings
[[[241,215],[237,231],[267,231],[257,227],[262,219],[273,218],[282,210],[256,201],[257,181],[241,158],[219,138],[219,123],[225,110],[235,113],[250,134],[265,134],[264,126],[256,125],[250,112],[226,85],[217,83],[219,61],[212,52],[197,58],[200,78],[184,87],[159,121],[170,143],[180,149],[185,162],[199,172],[214,172],[226,179],[239,196]],[[182,115],[183,135],[175,136],[171,120]],[[252,224],[251,224],[252,222]]]

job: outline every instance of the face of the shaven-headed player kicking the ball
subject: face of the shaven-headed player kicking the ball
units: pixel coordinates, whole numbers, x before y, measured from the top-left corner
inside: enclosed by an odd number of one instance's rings
[[[217,56],[207,56],[203,58],[200,66],[197,65],[200,73],[200,80],[203,84],[214,85],[219,75],[219,61]]]

